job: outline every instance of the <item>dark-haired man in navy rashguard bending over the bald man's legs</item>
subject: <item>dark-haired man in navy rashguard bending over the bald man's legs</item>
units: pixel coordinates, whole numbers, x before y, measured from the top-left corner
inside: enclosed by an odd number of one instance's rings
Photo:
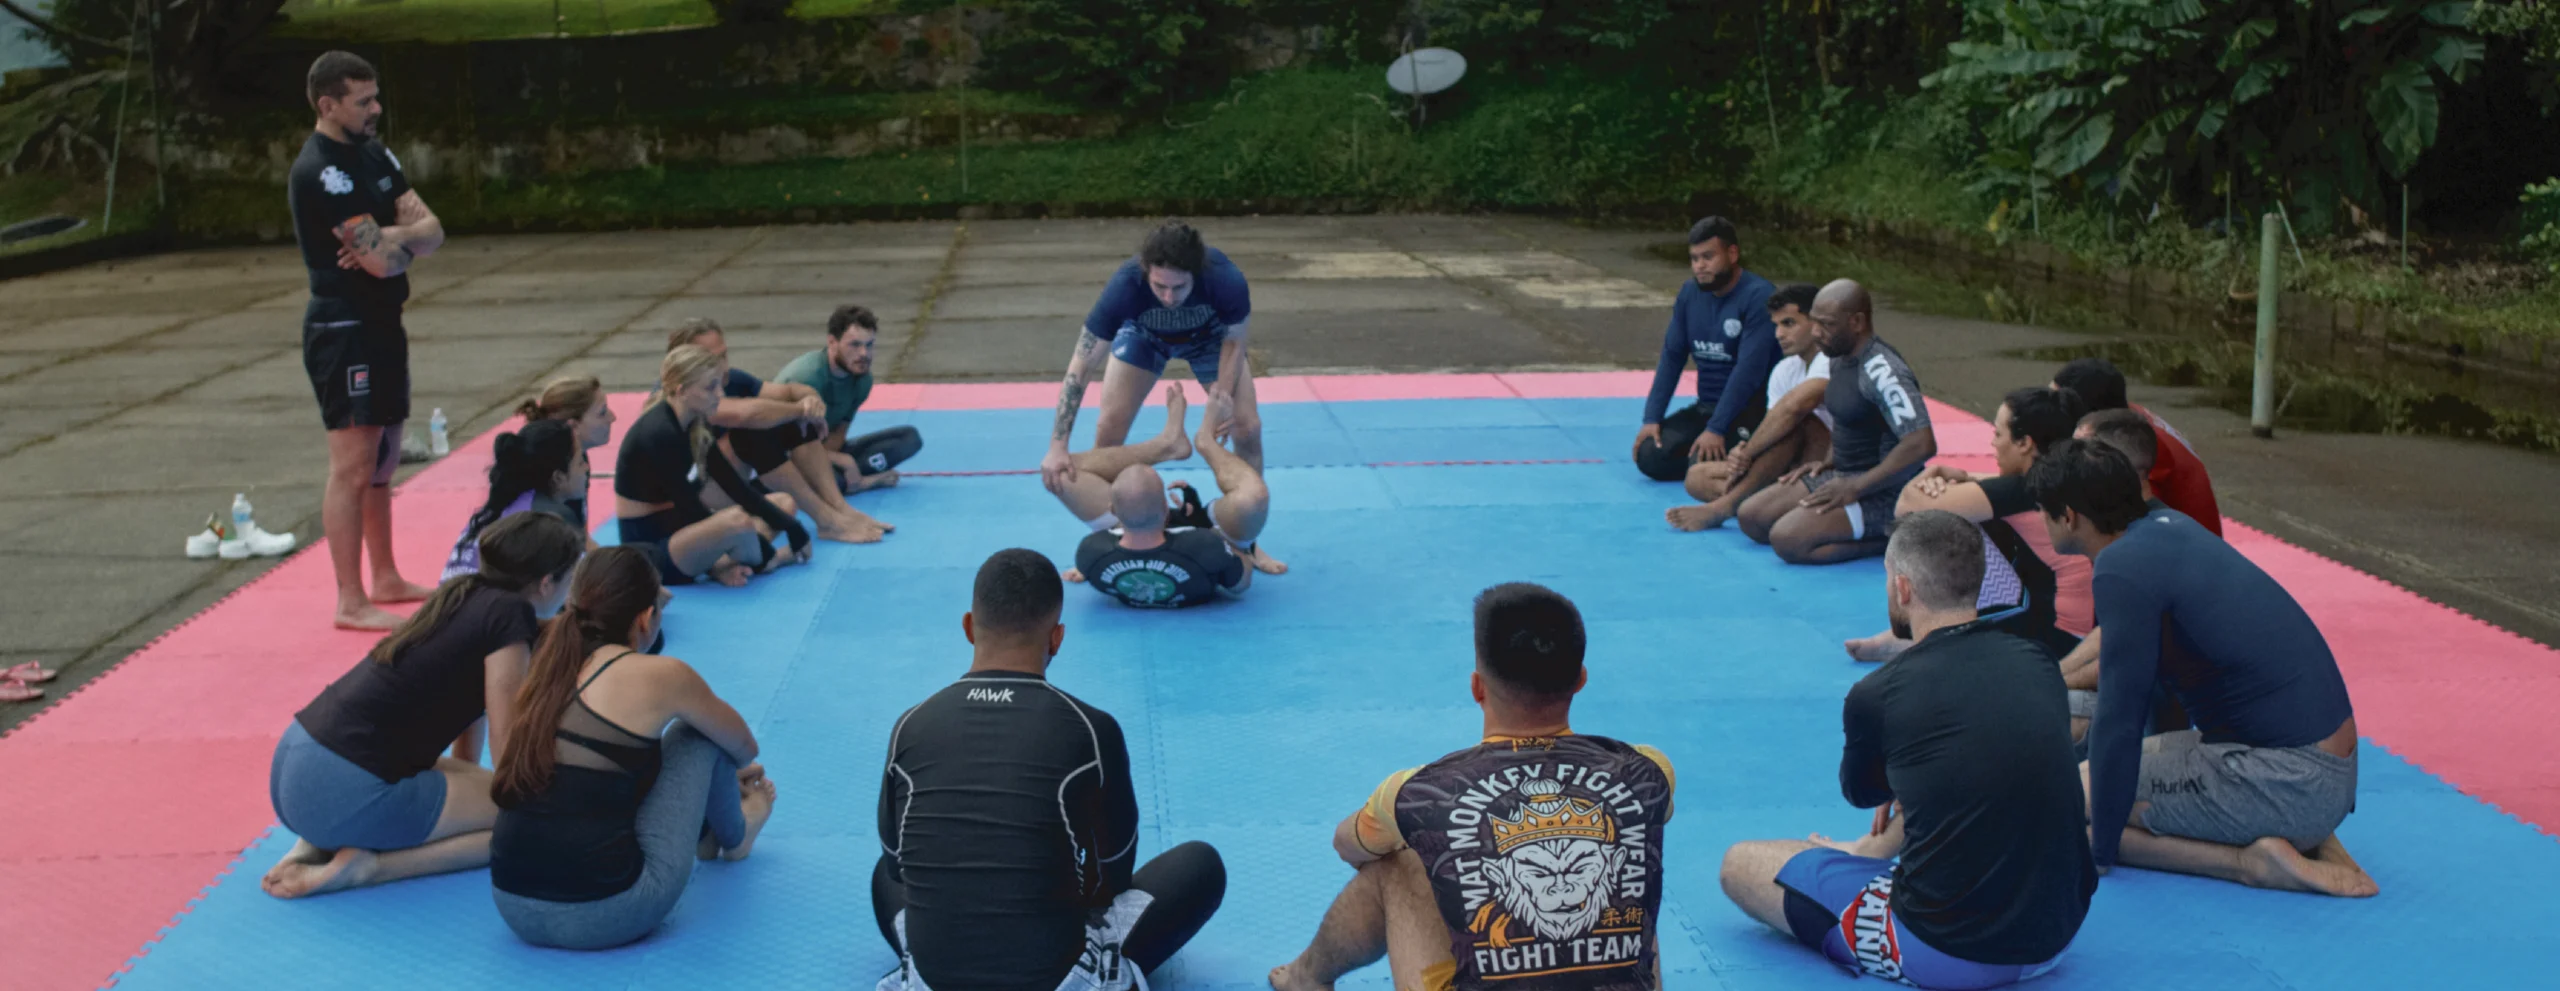
[[[1244,356],[1247,320],[1254,312],[1244,271],[1226,254],[1201,241],[1188,223],[1165,220],[1147,233],[1134,259],[1121,261],[1103,284],[1101,300],[1085,315],[1068,356],[1068,379],[1057,389],[1057,420],[1050,428],[1050,453],[1039,458],[1039,481],[1052,494],[1080,471],[1106,471],[1129,458],[1108,453],[1129,443],[1129,425],[1147,389],[1165,374],[1165,361],[1183,359],[1190,376],[1208,389],[1203,433],[1234,446],[1234,453],[1262,471],[1262,412],[1254,405],[1254,379]],[[1093,451],[1068,453],[1075,415],[1085,405],[1085,384],[1101,374],[1103,402],[1093,423]],[[1111,481],[1116,469],[1103,476]],[[1283,574],[1285,563],[1260,548],[1239,548],[1262,574]]]

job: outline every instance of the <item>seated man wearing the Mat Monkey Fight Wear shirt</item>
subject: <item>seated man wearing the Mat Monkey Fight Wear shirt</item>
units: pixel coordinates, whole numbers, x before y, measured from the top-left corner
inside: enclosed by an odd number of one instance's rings
[[[1572,732],[1582,645],[1582,612],[1556,592],[1498,584],[1475,599],[1485,740],[1390,773],[1334,827],[1359,873],[1272,988],[1331,988],[1377,958],[1398,988],[1661,986],[1672,761]]]

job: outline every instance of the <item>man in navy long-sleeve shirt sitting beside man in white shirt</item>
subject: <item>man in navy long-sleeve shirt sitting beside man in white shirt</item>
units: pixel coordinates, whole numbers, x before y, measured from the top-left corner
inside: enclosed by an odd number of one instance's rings
[[[1743,271],[1741,259],[1731,220],[1705,218],[1690,228],[1690,282],[1672,300],[1654,392],[1644,397],[1644,428],[1636,430],[1636,469],[1654,481],[1682,481],[1692,463],[1723,458],[1728,440],[1769,412],[1761,389],[1779,353],[1769,323],[1774,289]],[[1697,366],[1697,405],[1664,417],[1682,364]]]

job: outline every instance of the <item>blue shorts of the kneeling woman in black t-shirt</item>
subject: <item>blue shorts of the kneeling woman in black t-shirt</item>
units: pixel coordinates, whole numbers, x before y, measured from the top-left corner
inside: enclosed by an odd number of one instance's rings
[[[381,781],[294,720],[266,768],[266,799],[287,830],[320,850],[407,850],[428,842],[445,814],[445,773]]]

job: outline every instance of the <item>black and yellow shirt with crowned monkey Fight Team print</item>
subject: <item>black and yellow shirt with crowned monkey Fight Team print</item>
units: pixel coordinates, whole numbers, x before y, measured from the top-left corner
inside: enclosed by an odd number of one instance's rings
[[[1651,991],[1664,761],[1610,737],[1487,740],[1395,789],[1462,991]]]

